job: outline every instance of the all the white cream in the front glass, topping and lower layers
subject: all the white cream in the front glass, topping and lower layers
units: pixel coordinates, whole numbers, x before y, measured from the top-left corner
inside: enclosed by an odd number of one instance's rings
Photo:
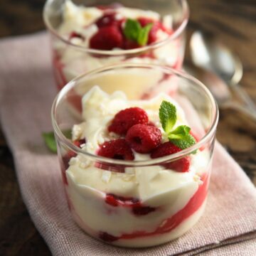
[[[82,118],[85,122],[73,127],[73,139],[86,138],[86,144],[81,145],[82,150],[90,154],[97,154],[100,144],[117,138],[117,135],[108,133],[107,127],[117,112],[127,107],[141,107],[161,129],[163,142],[167,141],[159,122],[159,106],[163,100],[176,106],[176,126],[187,124],[186,117],[171,97],[159,93],[151,100],[127,100],[123,92],[116,91],[111,95],[103,92],[100,87],[92,87],[82,97]],[[134,152],[135,161],[149,160],[149,154]],[[134,166],[124,169],[124,173],[106,171],[97,168],[95,161],[88,161],[85,156],[70,159],[70,166],[66,171],[68,186],[66,191],[69,201],[73,206],[79,223],[84,223],[88,233],[107,232],[116,237],[131,234],[134,231],[154,232],[156,228],[166,223],[166,219],[182,210],[193,195],[198,191],[203,181],[201,176],[208,171],[210,156],[208,151],[197,151],[191,157],[191,168],[186,173],[180,173],[164,166]],[[145,206],[154,207],[156,210],[150,214],[140,216],[131,213],[127,208],[113,208],[105,204],[107,194],[114,194],[124,198],[137,198]],[[90,207],[88,207],[90,206]],[[203,207],[203,206],[202,206]],[[117,240],[119,245],[149,246],[176,238],[194,225],[201,215],[201,208],[182,223],[178,231],[171,231],[168,235],[161,234],[159,242],[152,243],[152,238],[146,238],[140,243],[136,239],[126,241]],[[118,225],[116,224],[118,223]]]

